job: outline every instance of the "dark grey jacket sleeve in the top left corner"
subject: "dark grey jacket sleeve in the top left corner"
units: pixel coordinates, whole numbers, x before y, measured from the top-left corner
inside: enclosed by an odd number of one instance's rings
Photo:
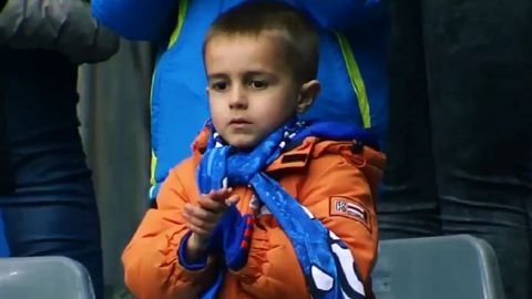
[[[99,62],[119,49],[119,38],[96,22],[82,0],[8,0],[0,12],[0,44],[57,50],[73,62]]]

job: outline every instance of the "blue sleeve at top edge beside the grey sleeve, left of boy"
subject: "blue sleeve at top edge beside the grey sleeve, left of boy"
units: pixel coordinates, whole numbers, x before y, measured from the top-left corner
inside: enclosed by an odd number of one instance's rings
[[[163,38],[176,20],[180,0],[92,0],[95,19],[131,40]]]

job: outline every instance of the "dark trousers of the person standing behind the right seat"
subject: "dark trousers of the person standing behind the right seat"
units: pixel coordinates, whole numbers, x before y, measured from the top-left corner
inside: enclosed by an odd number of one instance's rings
[[[381,237],[481,237],[532,298],[532,1],[390,2]]]

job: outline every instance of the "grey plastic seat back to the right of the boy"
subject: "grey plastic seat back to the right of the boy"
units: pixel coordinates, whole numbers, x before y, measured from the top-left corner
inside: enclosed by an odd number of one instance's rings
[[[470,235],[383,240],[371,275],[378,299],[503,299],[491,246]]]

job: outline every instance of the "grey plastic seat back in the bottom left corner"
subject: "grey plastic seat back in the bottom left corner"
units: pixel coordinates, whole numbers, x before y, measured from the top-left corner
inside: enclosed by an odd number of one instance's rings
[[[86,269],[65,257],[0,258],[1,299],[94,299]]]

